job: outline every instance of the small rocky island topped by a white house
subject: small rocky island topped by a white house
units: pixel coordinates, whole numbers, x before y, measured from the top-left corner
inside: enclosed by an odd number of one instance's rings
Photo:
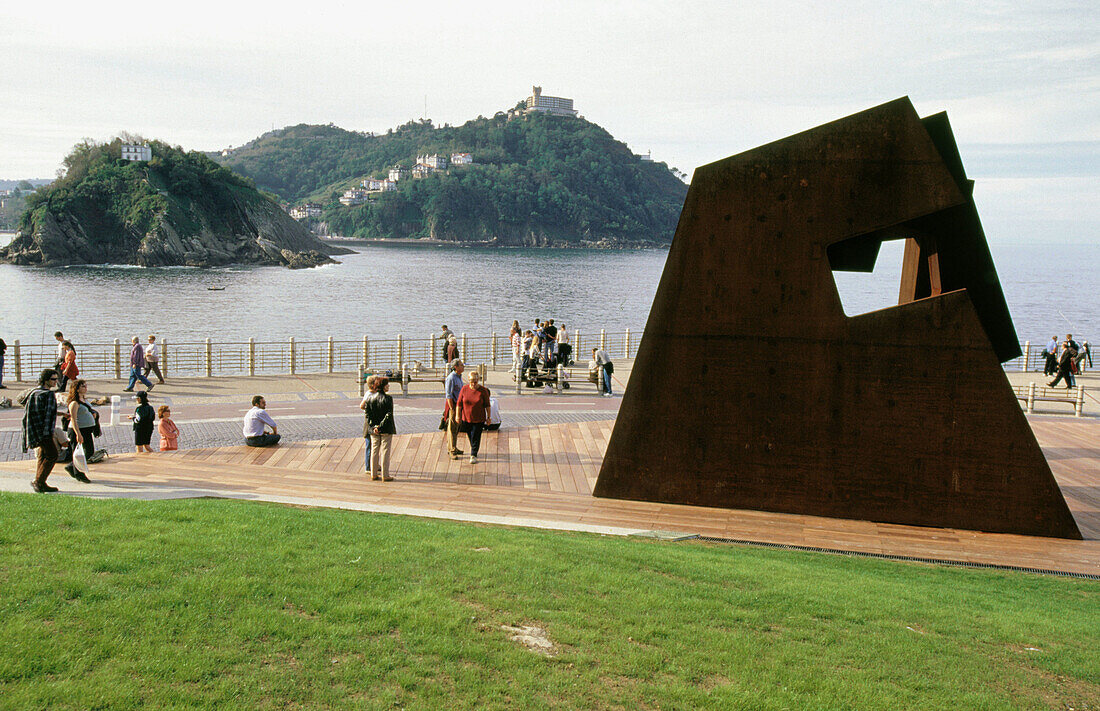
[[[0,262],[299,269],[346,253],[199,152],[160,141],[86,141],[64,165],[63,177],[28,198]]]

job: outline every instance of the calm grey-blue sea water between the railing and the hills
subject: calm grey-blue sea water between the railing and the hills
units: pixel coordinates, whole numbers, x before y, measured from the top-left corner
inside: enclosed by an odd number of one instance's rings
[[[667,250],[356,245],[310,270],[0,265],[0,338],[78,343],[157,333],[172,342],[427,337],[447,324],[471,336],[554,318],[571,330],[640,330]],[[875,274],[837,273],[849,315],[897,303],[901,243]],[[1021,341],[1067,332],[1100,340],[1093,289],[1100,245],[992,245]],[[211,291],[218,289],[218,291]]]

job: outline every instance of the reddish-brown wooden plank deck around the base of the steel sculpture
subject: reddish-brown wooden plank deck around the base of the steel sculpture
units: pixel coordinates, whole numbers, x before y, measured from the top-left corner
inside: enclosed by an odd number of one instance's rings
[[[112,455],[96,482],[182,488],[197,495],[485,519],[551,527],[662,530],[767,544],[1100,575],[1100,423],[1035,418],[1032,427],[1086,540],[900,526],[591,495],[613,423],[504,429],[483,437],[479,463],[452,461],[438,433],[394,438],[397,481],[363,472],[361,438]],[[463,444],[464,446],[464,438]],[[29,462],[3,469],[29,471]],[[64,477],[64,474],[62,474]],[[53,479],[52,479],[53,481]],[[63,488],[67,482],[58,481]],[[67,489],[67,488],[66,488]]]

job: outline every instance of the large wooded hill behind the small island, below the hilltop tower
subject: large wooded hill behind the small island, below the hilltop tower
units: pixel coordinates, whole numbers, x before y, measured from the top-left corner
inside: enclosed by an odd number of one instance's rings
[[[420,154],[471,153],[474,164],[398,183],[345,207],[343,189]],[[459,127],[413,121],[369,135],[333,125],[266,133],[219,162],[263,189],[323,206],[330,232],[528,245],[667,244],[688,187],[581,118],[479,117]]]

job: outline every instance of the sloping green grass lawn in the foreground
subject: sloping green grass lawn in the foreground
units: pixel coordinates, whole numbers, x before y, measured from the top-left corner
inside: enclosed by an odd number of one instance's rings
[[[1098,709],[1098,631],[1080,580],[0,494],[2,709]]]

